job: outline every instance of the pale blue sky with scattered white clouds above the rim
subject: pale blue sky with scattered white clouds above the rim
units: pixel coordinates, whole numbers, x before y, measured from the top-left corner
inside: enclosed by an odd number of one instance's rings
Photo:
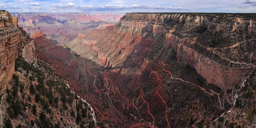
[[[9,12],[230,12],[256,13],[256,0],[0,0]]]

